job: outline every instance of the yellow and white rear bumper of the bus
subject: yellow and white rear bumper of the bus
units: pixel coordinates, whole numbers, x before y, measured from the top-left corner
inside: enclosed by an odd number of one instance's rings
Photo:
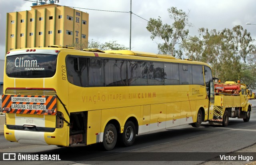
[[[54,132],[39,132],[28,130],[10,130],[4,125],[4,137],[8,141],[15,141],[21,144],[36,145],[61,145],[67,146],[67,132],[62,129],[55,129]]]

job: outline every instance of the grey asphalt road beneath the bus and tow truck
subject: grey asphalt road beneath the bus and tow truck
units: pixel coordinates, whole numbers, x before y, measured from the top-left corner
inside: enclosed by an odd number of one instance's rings
[[[6,141],[0,135],[0,154],[21,153],[29,155],[59,155],[61,161],[2,161],[4,165],[246,165],[251,161],[220,161],[223,155],[243,155],[244,159],[256,160],[256,108],[252,108],[249,122],[230,118],[227,127],[211,126],[200,128],[190,125],[144,134],[136,137],[131,147],[116,146],[112,151],[102,151],[100,144],[86,147],[60,148],[54,145],[24,145]],[[235,152],[235,153],[233,153]],[[1,155],[0,155],[1,156]],[[228,158],[228,157],[227,157]]]

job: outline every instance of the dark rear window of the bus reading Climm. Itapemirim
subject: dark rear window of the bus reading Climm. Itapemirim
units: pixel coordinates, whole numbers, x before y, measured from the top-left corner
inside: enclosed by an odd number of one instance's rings
[[[16,78],[52,77],[56,72],[57,55],[22,54],[6,57],[6,74]]]

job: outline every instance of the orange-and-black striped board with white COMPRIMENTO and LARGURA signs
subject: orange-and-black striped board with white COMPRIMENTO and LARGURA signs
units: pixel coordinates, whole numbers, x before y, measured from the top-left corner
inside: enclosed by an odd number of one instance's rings
[[[11,108],[4,113],[55,115],[56,96],[2,95],[2,107]]]

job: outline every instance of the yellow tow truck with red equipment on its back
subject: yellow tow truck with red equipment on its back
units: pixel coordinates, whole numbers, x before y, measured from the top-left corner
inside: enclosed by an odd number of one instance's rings
[[[248,102],[251,96],[246,84],[226,81],[214,84],[214,114],[209,124],[228,126],[229,118],[243,119],[249,122],[252,104]]]

